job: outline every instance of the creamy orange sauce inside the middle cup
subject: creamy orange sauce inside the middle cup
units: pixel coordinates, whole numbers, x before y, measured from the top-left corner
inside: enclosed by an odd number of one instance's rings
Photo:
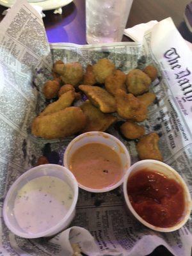
[[[122,178],[123,166],[115,150],[102,143],[90,143],[72,154],[70,171],[83,186],[102,189]]]

